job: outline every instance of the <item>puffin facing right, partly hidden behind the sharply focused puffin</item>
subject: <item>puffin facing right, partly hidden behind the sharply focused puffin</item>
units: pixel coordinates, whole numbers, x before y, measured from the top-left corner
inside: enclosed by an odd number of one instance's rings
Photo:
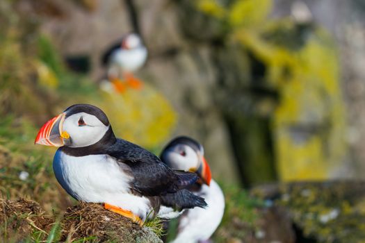
[[[161,160],[172,169],[191,171],[199,176],[189,190],[205,199],[206,208],[186,210],[179,217],[178,233],[174,243],[202,242],[216,231],[225,210],[225,197],[219,185],[211,179],[211,170],[204,158],[202,144],[190,137],[176,137],[165,149]]]

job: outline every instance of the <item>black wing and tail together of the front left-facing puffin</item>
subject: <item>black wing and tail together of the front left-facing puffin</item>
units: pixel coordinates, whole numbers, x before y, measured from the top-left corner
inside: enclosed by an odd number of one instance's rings
[[[184,189],[197,181],[195,173],[173,171],[153,153],[125,140],[118,139],[107,153],[131,167],[136,192],[159,196],[163,206],[177,210],[206,207],[204,199]]]

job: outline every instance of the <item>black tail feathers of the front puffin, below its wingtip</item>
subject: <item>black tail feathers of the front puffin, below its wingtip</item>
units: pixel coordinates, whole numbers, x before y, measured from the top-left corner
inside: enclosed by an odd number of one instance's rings
[[[195,207],[205,208],[208,206],[202,197],[197,196],[186,189],[161,196],[161,204],[170,208],[175,208],[176,210]]]

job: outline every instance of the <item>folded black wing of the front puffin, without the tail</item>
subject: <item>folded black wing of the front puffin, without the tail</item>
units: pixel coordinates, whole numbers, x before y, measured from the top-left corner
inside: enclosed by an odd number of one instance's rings
[[[174,193],[197,181],[196,174],[173,171],[153,153],[125,140],[117,140],[107,153],[131,167],[133,190],[144,196]]]

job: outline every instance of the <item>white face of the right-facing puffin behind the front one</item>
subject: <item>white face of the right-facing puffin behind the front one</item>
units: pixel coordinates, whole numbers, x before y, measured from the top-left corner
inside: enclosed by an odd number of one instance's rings
[[[195,171],[200,166],[199,155],[186,144],[177,144],[163,153],[163,160],[172,169]]]

